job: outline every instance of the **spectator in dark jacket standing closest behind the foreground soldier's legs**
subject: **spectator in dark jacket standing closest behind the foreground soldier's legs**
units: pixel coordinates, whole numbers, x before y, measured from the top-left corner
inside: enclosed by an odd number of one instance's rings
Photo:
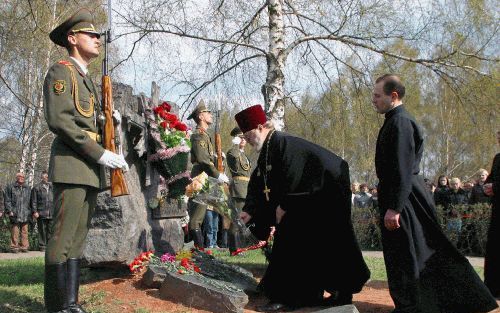
[[[49,182],[49,173],[43,171],[40,178],[41,181],[31,190],[31,210],[33,218],[37,220],[38,225],[38,247],[40,251],[45,251],[54,215],[54,201],[52,183]]]

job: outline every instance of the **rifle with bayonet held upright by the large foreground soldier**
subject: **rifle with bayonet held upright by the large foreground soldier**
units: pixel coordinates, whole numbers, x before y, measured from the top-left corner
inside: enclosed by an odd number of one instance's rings
[[[111,77],[108,73],[108,44],[111,43],[111,0],[108,0],[108,29],[104,33],[104,60],[102,61],[102,111],[105,116],[103,130],[104,149],[122,154],[121,127],[113,122],[113,90]],[[110,169],[111,196],[128,195],[127,183],[122,169]]]

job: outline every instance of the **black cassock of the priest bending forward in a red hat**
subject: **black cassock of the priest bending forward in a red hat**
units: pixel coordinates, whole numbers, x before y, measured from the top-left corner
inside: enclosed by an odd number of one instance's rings
[[[275,225],[277,206],[286,211],[261,282],[271,301],[314,305],[324,290],[362,289],[370,272],[354,235],[349,188],[349,166],[340,157],[304,139],[269,132],[243,211],[252,215],[251,229],[260,239]]]

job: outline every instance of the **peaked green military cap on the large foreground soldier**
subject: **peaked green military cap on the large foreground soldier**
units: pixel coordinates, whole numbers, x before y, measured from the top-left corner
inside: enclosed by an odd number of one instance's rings
[[[101,34],[94,27],[94,18],[87,9],[80,9],[70,18],[62,22],[50,32],[49,37],[56,45],[66,47],[68,44],[68,34],[70,33],[90,33],[101,37]]]

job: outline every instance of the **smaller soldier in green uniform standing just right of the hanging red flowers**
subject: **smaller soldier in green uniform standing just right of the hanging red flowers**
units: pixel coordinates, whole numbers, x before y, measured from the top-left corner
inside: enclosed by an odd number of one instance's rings
[[[226,174],[217,170],[214,165],[213,153],[214,148],[212,140],[207,133],[207,129],[213,123],[212,112],[207,109],[205,102],[201,100],[193,112],[187,118],[193,119],[196,123],[196,129],[191,135],[191,177],[195,177],[202,172],[208,176],[215,177],[221,182],[228,183],[229,179]],[[195,202],[189,203],[189,232],[197,247],[203,248],[203,234],[201,232],[201,224],[205,219],[207,206]]]

